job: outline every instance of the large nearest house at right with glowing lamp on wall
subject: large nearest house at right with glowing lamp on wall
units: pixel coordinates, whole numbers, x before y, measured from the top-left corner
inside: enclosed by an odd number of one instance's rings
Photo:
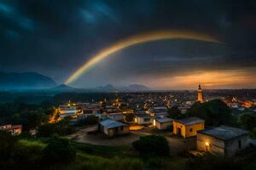
[[[197,150],[233,156],[248,146],[248,132],[235,127],[212,127],[197,132]]]

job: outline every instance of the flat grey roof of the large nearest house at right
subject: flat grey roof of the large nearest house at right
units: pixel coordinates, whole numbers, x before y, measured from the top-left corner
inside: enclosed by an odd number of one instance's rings
[[[246,135],[248,131],[242,130],[241,128],[236,127],[212,127],[197,131],[197,133],[207,134],[217,139],[229,140],[234,139],[236,137]]]

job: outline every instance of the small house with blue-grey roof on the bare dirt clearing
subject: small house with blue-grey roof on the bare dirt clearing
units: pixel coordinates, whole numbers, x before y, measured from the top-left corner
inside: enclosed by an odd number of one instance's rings
[[[127,124],[109,118],[99,122],[99,129],[102,133],[110,137],[118,134],[130,133],[130,127]]]

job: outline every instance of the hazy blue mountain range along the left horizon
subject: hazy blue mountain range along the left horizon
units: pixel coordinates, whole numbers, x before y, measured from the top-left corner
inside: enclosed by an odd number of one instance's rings
[[[6,73],[0,72],[0,90],[43,90],[53,93],[65,92],[137,92],[149,91],[150,88],[141,84],[115,87],[112,84],[96,88],[73,88],[65,84],[57,85],[50,77],[40,75],[36,72]]]

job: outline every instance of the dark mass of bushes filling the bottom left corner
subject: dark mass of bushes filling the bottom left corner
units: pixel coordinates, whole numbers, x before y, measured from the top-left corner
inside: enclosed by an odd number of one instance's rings
[[[20,142],[20,137],[0,131],[0,169],[48,169],[75,159],[76,150],[68,139],[55,137],[49,144]],[[26,140],[25,140],[26,141]]]

